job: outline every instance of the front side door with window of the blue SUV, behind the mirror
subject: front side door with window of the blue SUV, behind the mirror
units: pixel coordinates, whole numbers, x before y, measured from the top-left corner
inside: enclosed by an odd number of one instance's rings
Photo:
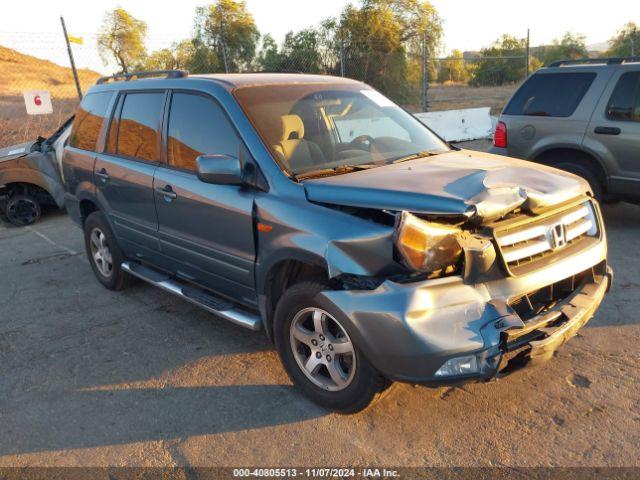
[[[154,181],[163,256],[178,276],[254,304],[254,191],[196,175],[199,155],[246,157],[244,144],[208,95],[175,91],[167,110],[166,163]]]

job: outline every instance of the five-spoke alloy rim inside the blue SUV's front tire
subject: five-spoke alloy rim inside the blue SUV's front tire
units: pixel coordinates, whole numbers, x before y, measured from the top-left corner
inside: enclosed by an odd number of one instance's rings
[[[315,307],[299,311],[291,321],[290,342],[298,367],[314,385],[337,392],[353,381],[353,343],[342,325],[326,311]]]

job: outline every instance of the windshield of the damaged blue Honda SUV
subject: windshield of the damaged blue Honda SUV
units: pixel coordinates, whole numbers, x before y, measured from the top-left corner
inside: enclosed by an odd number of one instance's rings
[[[413,115],[363,84],[260,85],[234,94],[274,158],[296,176],[449,150]]]

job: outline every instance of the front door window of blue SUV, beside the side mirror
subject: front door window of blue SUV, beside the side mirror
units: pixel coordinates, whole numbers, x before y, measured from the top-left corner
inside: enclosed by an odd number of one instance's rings
[[[189,93],[174,93],[169,111],[169,165],[196,169],[196,158],[206,154],[238,156],[240,139],[222,111],[211,98]]]

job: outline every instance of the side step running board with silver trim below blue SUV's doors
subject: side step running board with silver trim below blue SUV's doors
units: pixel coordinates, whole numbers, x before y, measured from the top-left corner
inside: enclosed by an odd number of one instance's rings
[[[134,277],[138,277],[151,285],[173,293],[185,299],[187,302],[193,303],[241,327],[248,328],[249,330],[260,330],[262,328],[260,316],[241,310],[229,300],[216,297],[197,287],[184,284],[180,282],[180,280],[165,273],[135,262],[123,262],[122,269]]]

